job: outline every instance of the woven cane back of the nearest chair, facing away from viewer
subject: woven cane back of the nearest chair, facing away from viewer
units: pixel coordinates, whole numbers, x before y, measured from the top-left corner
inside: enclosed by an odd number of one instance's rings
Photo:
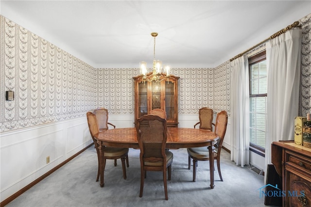
[[[152,114],[144,115],[137,120],[136,131],[141,163],[163,161],[166,165],[166,120]]]

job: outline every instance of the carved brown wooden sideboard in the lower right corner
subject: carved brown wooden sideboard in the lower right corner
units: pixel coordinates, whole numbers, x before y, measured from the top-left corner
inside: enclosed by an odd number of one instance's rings
[[[282,177],[283,206],[311,206],[311,148],[275,141],[271,150],[271,161]]]

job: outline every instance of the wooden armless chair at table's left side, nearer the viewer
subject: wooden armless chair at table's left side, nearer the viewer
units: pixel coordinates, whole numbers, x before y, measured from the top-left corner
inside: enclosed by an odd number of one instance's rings
[[[87,118],[87,124],[88,124],[88,129],[89,132],[91,134],[91,137],[93,139],[94,145],[95,145],[95,149],[97,152],[97,159],[98,159],[98,170],[97,170],[97,178],[96,181],[99,180],[99,176],[100,176],[100,169],[99,169],[99,163],[100,163],[100,155],[99,155],[99,144],[97,143],[96,139],[94,138],[94,135],[99,133],[99,127],[98,127],[98,123],[97,123],[97,119],[95,114],[93,114],[92,112],[87,112],[86,113],[86,118]],[[121,158],[121,162],[122,162],[122,171],[123,171],[123,178],[126,179],[126,168],[125,168],[125,160],[126,160],[126,166],[129,167],[129,163],[128,163],[128,148],[119,148],[119,147],[109,147],[106,146],[104,149],[104,169],[105,169],[105,165],[106,165],[106,159],[114,159],[117,160],[119,158]],[[115,161],[115,166],[117,165],[116,161]]]

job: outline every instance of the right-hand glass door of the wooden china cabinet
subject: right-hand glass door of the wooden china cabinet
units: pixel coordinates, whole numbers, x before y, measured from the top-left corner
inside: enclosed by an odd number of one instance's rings
[[[173,120],[175,114],[174,83],[165,81],[165,111],[167,120]]]

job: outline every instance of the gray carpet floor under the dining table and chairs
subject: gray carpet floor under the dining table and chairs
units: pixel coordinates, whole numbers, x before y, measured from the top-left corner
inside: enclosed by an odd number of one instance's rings
[[[259,188],[264,176],[249,166],[236,166],[225,150],[221,154],[224,181],[215,173],[215,187],[209,187],[208,161],[199,161],[196,182],[192,166],[188,170],[187,149],[173,152],[172,180],[168,181],[169,200],[165,200],[162,172],[147,172],[143,196],[139,198],[139,150],[130,149],[127,179],[122,176],[121,160],[114,167],[107,160],[105,185],[96,182],[97,155],[92,145],[62,168],[10,202],[7,207],[264,207]]]

